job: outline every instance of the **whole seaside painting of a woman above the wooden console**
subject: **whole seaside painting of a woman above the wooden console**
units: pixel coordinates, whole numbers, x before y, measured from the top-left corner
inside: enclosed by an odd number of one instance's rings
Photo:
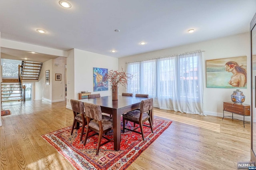
[[[206,60],[206,87],[247,88],[247,57]]]

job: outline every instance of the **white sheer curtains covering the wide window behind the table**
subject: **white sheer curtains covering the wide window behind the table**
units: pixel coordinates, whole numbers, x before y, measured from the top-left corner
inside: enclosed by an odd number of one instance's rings
[[[129,93],[149,94],[154,107],[204,115],[202,52],[127,64]]]

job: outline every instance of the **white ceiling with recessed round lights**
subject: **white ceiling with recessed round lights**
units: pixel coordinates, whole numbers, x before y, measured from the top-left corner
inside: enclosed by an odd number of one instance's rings
[[[256,12],[256,0],[68,0],[69,9],[58,2],[0,0],[1,39],[125,57],[248,32]],[[4,47],[1,53],[40,55]]]

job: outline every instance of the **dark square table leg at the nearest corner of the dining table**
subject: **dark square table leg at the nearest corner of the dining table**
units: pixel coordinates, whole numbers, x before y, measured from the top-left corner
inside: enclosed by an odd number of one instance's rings
[[[114,135],[114,150],[120,150],[121,142],[121,114],[118,114],[116,110],[113,111],[113,135]]]

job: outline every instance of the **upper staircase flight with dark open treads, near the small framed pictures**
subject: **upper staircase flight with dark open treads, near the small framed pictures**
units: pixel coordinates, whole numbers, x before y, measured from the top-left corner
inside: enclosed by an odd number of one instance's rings
[[[22,61],[21,79],[22,80],[38,80],[43,63]]]

